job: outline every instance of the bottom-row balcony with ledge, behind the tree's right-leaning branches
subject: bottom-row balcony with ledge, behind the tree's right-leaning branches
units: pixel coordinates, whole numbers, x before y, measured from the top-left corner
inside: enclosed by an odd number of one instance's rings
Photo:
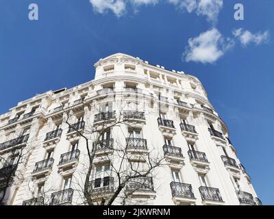
[[[132,196],[154,198],[152,177],[137,177],[129,179],[125,185],[125,190]]]

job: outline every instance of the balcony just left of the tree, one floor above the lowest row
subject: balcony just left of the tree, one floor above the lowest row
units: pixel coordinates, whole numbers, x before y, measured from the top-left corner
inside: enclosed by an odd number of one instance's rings
[[[60,157],[60,162],[58,164],[60,172],[68,170],[69,168],[75,169],[79,162],[79,155],[80,151],[78,149],[75,151],[63,153]]]

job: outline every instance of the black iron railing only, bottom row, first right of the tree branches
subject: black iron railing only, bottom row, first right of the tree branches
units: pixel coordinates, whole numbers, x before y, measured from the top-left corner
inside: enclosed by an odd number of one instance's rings
[[[186,183],[171,182],[171,194],[173,197],[195,198],[192,186]]]

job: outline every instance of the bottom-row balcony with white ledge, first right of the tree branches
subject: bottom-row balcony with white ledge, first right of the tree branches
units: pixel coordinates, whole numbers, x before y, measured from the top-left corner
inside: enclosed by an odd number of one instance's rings
[[[194,204],[196,200],[192,186],[186,183],[171,182],[171,194],[175,205],[180,205],[181,203],[191,205]]]

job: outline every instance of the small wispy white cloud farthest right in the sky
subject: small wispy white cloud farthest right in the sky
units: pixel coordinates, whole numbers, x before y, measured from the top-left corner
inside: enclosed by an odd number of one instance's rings
[[[253,42],[256,45],[267,42],[269,40],[269,31],[264,31],[264,33],[258,32],[252,34],[249,30],[234,29],[232,34],[238,38],[242,45],[247,46],[247,44]]]

